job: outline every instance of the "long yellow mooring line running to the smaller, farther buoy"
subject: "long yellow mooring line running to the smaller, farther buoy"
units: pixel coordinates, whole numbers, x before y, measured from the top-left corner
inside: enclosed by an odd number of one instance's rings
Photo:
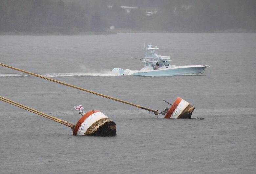
[[[7,68],[11,68],[13,70],[21,71],[21,72],[24,72],[24,73],[27,73],[27,74],[30,74],[30,75],[34,75],[36,77],[40,77],[40,78],[43,78],[43,79],[46,79],[46,80],[50,80],[50,81],[53,81],[53,82],[56,82],[56,83],[59,83],[59,84],[62,84],[62,85],[66,85],[68,87],[74,87],[76,89],[80,89],[82,91],[86,91],[86,92],[89,92],[89,93],[92,93],[92,94],[96,94],[96,95],[99,95],[101,97],[105,97],[105,98],[108,98],[108,99],[111,99],[111,100],[115,100],[117,102],[122,102],[122,103],[125,103],[125,104],[130,104],[132,106],[136,106],[138,108],[145,109],[145,110],[148,110],[148,111],[151,111],[151,112],[154,112],[154,113],[158,112],[158,110],[150,109],[150,108],[143,107],[143,106],[140,106],[140,105],[137,105],[137,104],[133,104],[133,103],[126,102],[126,101],[123,101],[123,100],[119,100],[119,99],[116,99],[114,97],[103,95],[103,94],[100,94],[100,93],[97,93],[97,92],[94,92],[94,91],[90,91],[90,90],[87,90],[87,89],[84,89],[84,88],[81,88],[81,87],[76,87],[74,85],[70,85],[70,84],[67,84],[67,83],[64,83],[64,82],[60,82],[58,80],[54,80],[54,79],[51,79],[51,78],[48,78],[48,77],[45,77],[45,76],[42,76],[42,75],[38,75],[38,74],[35,74],[35,73],[32,73],[32,72],[29,72],[29,71],[25,71],[25,70],[21,70],[21,69],[15,68],[15,67],[11,67],[9,65],[5,65],[5,64],[2,64],[2,63],[0,63],[0,65],[2,65],[4,67],[7,67]]]

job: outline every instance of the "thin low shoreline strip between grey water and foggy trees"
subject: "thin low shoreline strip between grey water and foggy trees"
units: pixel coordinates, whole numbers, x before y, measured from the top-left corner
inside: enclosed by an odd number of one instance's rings
[[[8,31],[0,32],[0,35],[28,35],[28,36],[86,36],[86,35],[112,35],[118,33],[256,33],[256,30],[245,30],[245,29],[228,29],[228,30],[216,30],[216,31],[162,31],[162,30],[132,30],[132,29],[113,29],[106,31],[85,31],[85,32],[17,32]]]

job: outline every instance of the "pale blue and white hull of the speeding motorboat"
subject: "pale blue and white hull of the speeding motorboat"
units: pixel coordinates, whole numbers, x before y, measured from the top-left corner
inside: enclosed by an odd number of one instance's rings
[[[139,76],[173,76],[173,75],[192,75],[202,74],[208,66],[195,65],[195,66],[176,66],[172,68],[165,68],[160,70],[149,71],[130,71],[124,75],[139,75]]]

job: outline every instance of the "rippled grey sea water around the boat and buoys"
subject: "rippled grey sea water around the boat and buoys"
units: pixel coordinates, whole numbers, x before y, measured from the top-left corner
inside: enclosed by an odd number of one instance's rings
[[[138,70],[144,43],[202,75],[113,76]],[[137,107],[0,67],[0,94],[70,121],[98,109],[114,137],[73,136],[62,124],[0,101],[0,173],[255,173],[256,34],[0,36],[0,62],[162,110],[181,97],[198,119],[163,119]]]

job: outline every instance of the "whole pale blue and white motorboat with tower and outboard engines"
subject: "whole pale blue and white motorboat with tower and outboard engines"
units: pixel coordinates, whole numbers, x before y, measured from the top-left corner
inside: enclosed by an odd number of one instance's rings
[[[144,63],[141,70],[123,70],[121,68],[114,68],[112,73],[115,75],[141,75],[141,76],[172,76],[172,75],[190,75],[202,74],[208,65],[184,65],[176,66],[171,64],[170,56],[161,56],[155,53],[159,48],[144,48],[145,58],[136,58]]]

